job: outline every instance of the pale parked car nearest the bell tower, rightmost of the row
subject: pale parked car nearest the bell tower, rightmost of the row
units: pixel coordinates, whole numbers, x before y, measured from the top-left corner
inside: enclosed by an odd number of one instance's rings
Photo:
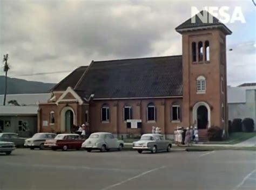
[[[156,153],[158,151],[171,151],[172,144],[169,140],[165,140],[163,135],[160,134],[144,134],[140,140],[133,142],[133,149],[139,153],[142,151],[151,151]]]

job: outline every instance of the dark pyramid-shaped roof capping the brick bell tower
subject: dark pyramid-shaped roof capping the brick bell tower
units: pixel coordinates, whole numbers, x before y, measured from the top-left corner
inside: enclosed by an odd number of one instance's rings
[[[206,22],[203,22],[198,15],[203,15],[207,16]],[[212,20],[210,19],[212,17]],[[195,22],[193,22],[195,20]],[[184,23],[180,24],[179,26],[176,27],[176,31],[181,33],[183,31],[187,30],[202,30],[202,29],[207,29],[209,27],[219,27],[221,30],[223,30],[226,34],[231,34],[232,31],[228,29],[226,25],[221,23],[218,18],[212,16],[209,12],[207,11],[201,11],[197,15],[193,16],[190,19],[187,19]]]

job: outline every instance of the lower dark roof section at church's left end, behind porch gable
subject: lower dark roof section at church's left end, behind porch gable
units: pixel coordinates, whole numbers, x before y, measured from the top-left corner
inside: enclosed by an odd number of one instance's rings
[[[60,81],[51,91],[65,91],[68,87],[75,88],[77,82],[86,71],[88,66],[81,66]]]

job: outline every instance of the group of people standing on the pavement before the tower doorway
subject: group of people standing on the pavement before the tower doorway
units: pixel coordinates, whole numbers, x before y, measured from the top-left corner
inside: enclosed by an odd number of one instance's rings
[[[198,142],[198,129],[197,127],[191,126],[190,128],[184,129],[182,126],[177,126],[174,130],[174,141],[178,146],[187,145],[189,146],[192,141]]]

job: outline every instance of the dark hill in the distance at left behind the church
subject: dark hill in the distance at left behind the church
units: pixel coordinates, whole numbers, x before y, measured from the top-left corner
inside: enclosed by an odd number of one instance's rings
[[[7,94],[48,93],[56,85],[55,83],[27,81],[9,77],[7,83]],[[5,76],[0,76],[0,94],[4,94],[4,88]]]

